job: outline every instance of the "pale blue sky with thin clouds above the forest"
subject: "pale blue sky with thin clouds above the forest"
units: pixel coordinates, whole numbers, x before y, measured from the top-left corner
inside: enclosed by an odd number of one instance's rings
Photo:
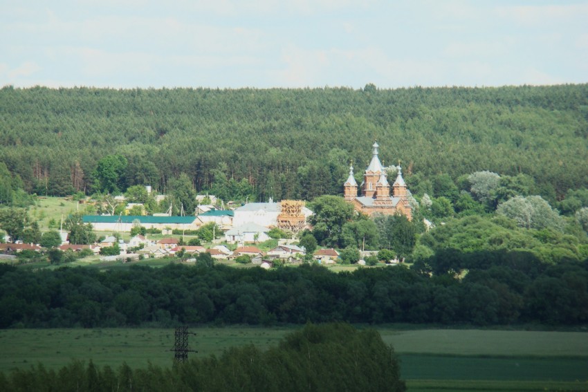
[[[0,0],[0,86],[588,82],[588,0]]]

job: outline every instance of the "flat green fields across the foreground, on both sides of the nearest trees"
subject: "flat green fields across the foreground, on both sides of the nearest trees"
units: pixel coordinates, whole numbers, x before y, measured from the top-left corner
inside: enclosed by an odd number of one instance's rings
[[[201,357],[230,346],[268,348],[293,328],[191,328]],[[378,328],[401,357],[410,391],[586,391],[588,333],[519,330],[397,330]],[[0,330],[0,371],[73,359],[116,367],[172,364],[174,329],[103,328]]]

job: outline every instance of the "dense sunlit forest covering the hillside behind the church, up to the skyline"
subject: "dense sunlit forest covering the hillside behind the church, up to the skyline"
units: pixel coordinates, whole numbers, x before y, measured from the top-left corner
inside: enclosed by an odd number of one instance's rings
[[[182,174],[196,191],[225,199],[311,200],[340,194],[349,162],[360,170],[367,165],[374,139],[385,164],[403,162],[409,185],[425,187],[423,180],[439,174],[453,181],[484,170],[525,174],[535,180],[534,194],[553,205],[569,189],[588,187],[588,85],[6,86],[0,90],[0,162],[6,164],[0,204],[9,193],[22,198],[18,189],[65,195],[152,185],[165,191]],[[420,177],[410,182],[411,176]]]

